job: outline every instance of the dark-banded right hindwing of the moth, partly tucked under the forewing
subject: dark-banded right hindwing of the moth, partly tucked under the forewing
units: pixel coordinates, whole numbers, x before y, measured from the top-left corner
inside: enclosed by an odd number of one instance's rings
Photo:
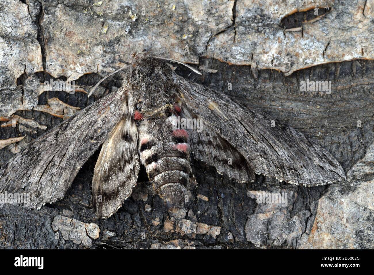
[[[186,105],[182,109],[184,110],[183,115],[187,119],[197,118],[188,111]],[[188,132],[194,159],[214,166],[219,174],[228,175],[238,182],[255,180],[255,173],[246,159],[208,124],[202,122],[200,129],[195,127],[188,129]]]

